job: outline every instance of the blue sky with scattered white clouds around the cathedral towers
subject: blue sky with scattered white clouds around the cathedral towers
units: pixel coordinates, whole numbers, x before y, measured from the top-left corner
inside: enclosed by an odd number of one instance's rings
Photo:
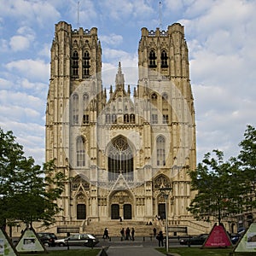
[[[44,163],[50,47],[59,21],[97,27],[102,70],[114,73],[119,61],[137,67],[142,27],[167,30],[179,22],[189,47],[197,162],[213,149],[236,156],[247,125],[256,126],[255,10],[254,0],[0,0],[0,127]]]

